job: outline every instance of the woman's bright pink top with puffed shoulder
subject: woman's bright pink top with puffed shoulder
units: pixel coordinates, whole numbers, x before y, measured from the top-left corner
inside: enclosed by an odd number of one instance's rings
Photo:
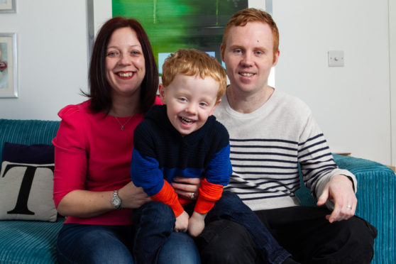
[[[114,116],[92,114],[89,104],[90,100],[65,106],[58,114],[62,121],[53,139],[55,207],[76,189],[114,191],[131,182],[133,131],[144,115],[118,117],[125,123],[121,130]],[[122,209],[92,218],[67,216],[65,224],[126,225],[132,223],[131,215],[132,209]]]

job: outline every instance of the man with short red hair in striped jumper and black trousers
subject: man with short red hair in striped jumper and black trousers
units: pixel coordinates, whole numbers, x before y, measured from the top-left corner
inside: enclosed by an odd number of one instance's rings
[[[255,211],[295,260],[370,263],[377,232],[354,216],[356,177],[336,166],[308,106],[268,86],[278,45],[275,22],[258,9],[238,11],[224,31],[221,58],[230,85],[214,115],[230,135],[229,190]],[[299,207],[298,163],[317,205],[329,209]],[[209,225],[198,245],[204,263],[256,261],[246,231],[228,221]]]

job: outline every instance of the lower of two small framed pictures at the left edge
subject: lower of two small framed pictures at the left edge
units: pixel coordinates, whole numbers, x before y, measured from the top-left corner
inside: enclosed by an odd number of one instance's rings
[[[0,97],[18,97],[17,77],[16,33],[0,33]]]

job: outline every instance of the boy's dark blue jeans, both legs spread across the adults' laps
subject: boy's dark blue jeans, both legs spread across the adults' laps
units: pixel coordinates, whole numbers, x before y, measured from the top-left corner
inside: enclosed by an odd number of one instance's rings
[[[255,242],[264,263],[282,263],[290,257],[290,253],[277,243],[258,216],[246,204],[243,204],[236,194],[223,192],[221,199],[207,214],[205,224],[220,219],[230,220],[245,227]],[[133,223],[136,226],[133,248],[136,262],[155,263],[158,252],[175,229],[175,214],[166,204],[148,202],[133,211]],[[202,239],[205,238],[199,236],[197,243],[200,243]],[[227,243],[233,243],[233,241]]]

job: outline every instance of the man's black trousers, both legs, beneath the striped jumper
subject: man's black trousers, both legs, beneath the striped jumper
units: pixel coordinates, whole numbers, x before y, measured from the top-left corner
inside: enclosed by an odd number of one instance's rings
[[[370,263],[375,227],[357,216],[330,224],[326,219],[330,213],[326,208],[301,206],[255,211],[300,263]],[[243,226],[231,221],[212,222],[201,235],[206,238],[199,244],[202,263],[263,263],[257,260],[255,243],[246,234]]]

